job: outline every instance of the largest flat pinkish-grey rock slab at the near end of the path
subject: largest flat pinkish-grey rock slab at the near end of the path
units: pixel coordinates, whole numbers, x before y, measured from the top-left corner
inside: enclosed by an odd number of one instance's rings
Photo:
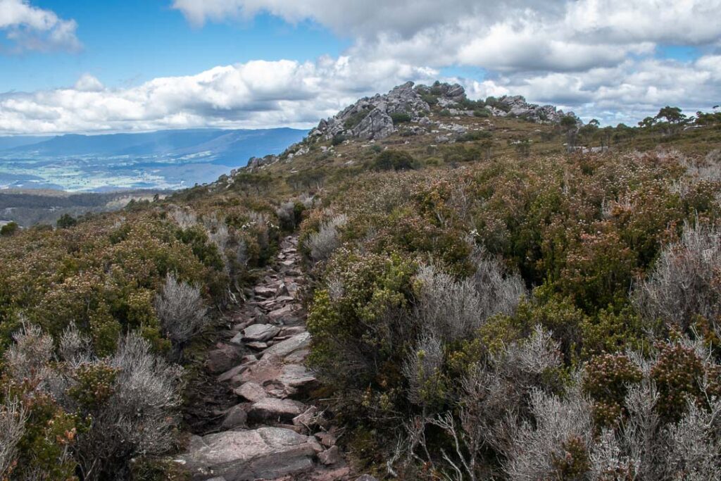
[[[194,436],[190,450],[178,461],[190,469],[193,480],[252,481],[312,469],[315,452],[308,436],[290,429],[258,428]]]

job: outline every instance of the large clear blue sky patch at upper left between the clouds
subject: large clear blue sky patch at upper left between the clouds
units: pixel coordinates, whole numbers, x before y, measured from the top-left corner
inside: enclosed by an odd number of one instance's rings
[[[191,26],[169,1],[33,1],[75,19],[79,52],[0,56],[0,92],[73,85],[92,74],[123,87],[159,76],[192,75],[213,66],[257,58],[299,61],[338,56],[350,41],[313,22],[291,25],[269,14],[242,22]]]

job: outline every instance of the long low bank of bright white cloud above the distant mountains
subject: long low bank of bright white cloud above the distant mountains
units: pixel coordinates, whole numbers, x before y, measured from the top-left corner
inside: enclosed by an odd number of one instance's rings
[[[308,127],[363,94],[437,76],[431,69],[349,57],[250,61],[126,89],[84,75],[74,87],[0,94],[0,134]]]

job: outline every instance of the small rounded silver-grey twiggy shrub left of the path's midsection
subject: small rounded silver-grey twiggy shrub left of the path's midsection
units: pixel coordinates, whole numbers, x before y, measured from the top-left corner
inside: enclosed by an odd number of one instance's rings
[[[162,329],[176,344],[187,343],[206,324],[200,288],[178,281],[173,273],[168,273],[154,306]]]

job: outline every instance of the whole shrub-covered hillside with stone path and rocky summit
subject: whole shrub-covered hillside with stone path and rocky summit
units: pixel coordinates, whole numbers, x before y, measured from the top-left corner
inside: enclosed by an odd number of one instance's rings
[[[717,478],[721,122],[551,112],[404,85],[208,185],[5,229],[0,469]]]

